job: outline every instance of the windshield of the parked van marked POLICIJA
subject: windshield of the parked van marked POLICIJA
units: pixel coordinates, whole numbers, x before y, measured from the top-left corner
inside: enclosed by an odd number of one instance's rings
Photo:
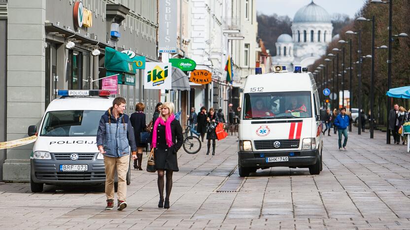
[[[92,137],[97,136],[101,116],[105,111],[52,111],[45,115],[40,136]]]

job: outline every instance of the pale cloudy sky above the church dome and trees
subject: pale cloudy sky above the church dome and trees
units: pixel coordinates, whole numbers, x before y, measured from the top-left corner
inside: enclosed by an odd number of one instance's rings
[[[354,14],[363,6],[366,0],[313,0],[317,5],[322,6],[329,12],[347,14],[354,18]],[[287,15],[293,20],[296,11],[307,5],[311,0],[256,0],[256,11],[266,15],[277,14]]]

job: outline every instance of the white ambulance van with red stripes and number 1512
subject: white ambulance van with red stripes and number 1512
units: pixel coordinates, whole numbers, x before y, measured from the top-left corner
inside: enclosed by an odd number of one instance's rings
[[[322,120],[319,94],[307,68],[250,75],[243,88],[239,121],[240,176],[270,167],[322,171]],[[302,71],[303,70],[303,71]]]

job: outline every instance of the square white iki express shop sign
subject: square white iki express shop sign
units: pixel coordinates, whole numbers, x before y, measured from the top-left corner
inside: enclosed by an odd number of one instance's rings
[[[169,62],[146,62],[144,71],[145,89],[171,89],[172,65]]]

